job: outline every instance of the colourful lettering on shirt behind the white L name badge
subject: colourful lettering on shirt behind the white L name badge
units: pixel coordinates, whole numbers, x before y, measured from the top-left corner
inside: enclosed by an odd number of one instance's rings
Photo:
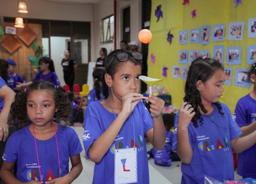
[[[115,154],[115,150],[118,149],[124,149],[124,148],[133,148],[136,147],[137,151],[143,151],[144,147],[143,147],[143,136],[138,135],[137,139],[135,137],[135,142],[133,140],[133,138],[131,138],[131,144],[130,145],[124,145],[122,140],[124,139],[124,137],[119,137],[118,138],[118,147],[117,147],[117,139],[115,140],[115,143],[112,144],[112,146],[110,147],[110,152]],[[136,143],[137,141],[137,143]]]

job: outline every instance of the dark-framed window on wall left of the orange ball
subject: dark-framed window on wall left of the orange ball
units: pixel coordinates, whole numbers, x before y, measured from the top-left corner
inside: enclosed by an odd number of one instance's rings
[[[109,43],[114,40],[114,15],[102,20],[100,43]]]

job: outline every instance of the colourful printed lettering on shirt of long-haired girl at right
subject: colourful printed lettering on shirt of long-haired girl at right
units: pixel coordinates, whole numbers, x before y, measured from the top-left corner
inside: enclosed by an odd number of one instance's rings
[[[219,150],[219,149],[223,149],[224,151],[229,150],[228,139],[225,136],[223,137],[223,140],[217,139],[216,141],[214,141],[214,140],[210,140],[209,137],[202,135],[202,136],[197,136],[197,141],[201,141],[197,145],[200,151],[207,152],[207,151]]]

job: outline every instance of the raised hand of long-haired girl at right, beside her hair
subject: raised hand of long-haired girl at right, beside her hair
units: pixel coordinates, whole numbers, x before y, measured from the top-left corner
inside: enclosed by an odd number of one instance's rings
[[[186,104],[187,102],[184,102],[181,104],[179,118],[178,118],[178,126],[182,126],[185,128],[188,127],[192,118],[196,114],[196,112],[194,112],[194,108],[190,104],[187,104],[187,105]]]

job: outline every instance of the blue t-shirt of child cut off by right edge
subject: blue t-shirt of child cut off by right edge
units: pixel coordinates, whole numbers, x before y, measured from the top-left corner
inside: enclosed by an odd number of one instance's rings
[[[256,100],[250,95],[242,97],[234,110],[234,117],[239,127],[247,126],[256,120]],[[256,144],[238,154],[238,171],[243,177],[256,179]]]

